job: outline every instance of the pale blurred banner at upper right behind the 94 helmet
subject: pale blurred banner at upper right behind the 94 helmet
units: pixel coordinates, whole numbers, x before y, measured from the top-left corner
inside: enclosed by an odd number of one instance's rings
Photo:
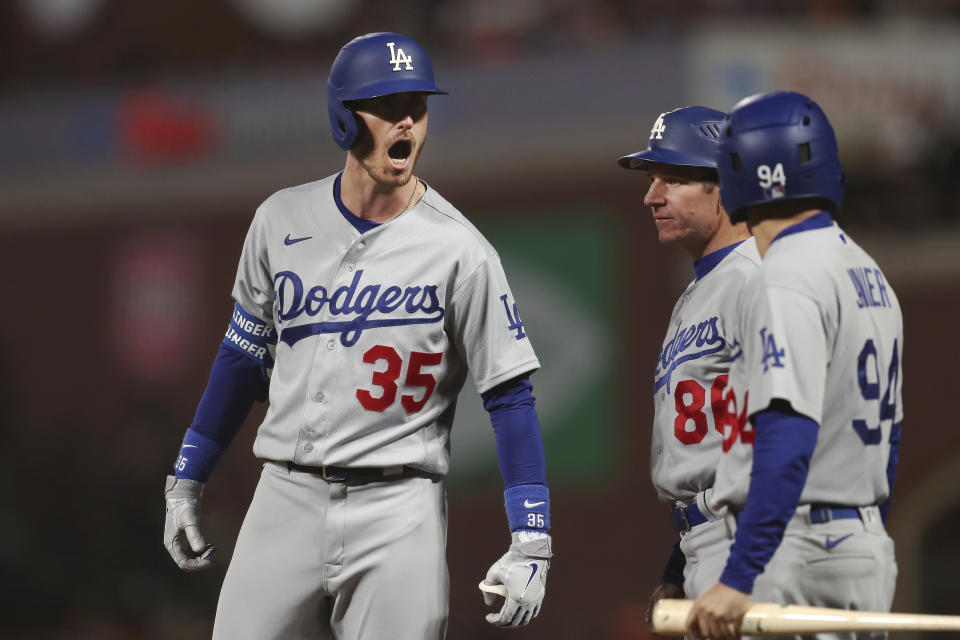
[[[906,169],[960,136],[960,38],[952,25],[709,23],[691,34],[691,101],[729,110],[763,91],[809,95],[845,161]]]

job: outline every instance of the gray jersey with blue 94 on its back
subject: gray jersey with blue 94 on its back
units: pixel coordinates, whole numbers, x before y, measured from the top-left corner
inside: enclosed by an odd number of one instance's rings
[[[883,502],[890,431],[903,420],[903,319],[876,262],[835,223],[781,235],[740,309],[742,356],[733,363],[714,506],[743,508],[753,454],[747,416],[774,399],[820,425],[800,504]]]

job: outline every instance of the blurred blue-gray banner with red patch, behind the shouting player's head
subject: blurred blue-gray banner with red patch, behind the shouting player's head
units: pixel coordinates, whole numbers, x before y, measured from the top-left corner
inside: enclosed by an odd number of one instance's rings
[[[680,99],[684,55],[680,41],[645,39],[435,66],[450,95],[431,99],[420,167],[449,192],[480,171],[609,171],[624,132],[645,140],[648,121]],[[344,161],[330,139],[328,69],[238,66],[0,96],[0,224],[70,220],[78,207],[126,219],[145,203],[204,215],[215,207],[200,203],[250,202],[326,175]],[[633,81],[641,71],[656,92]]]

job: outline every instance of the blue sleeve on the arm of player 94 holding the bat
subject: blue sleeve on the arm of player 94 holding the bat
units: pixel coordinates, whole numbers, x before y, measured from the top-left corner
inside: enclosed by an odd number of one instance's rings
[[[720,582],[743,593],[753,591],[754,581],[780,546],[803,493],[819,429],[789,408],[761,411],[752,422],[756,439],[747,504],[737,518],[737,535],[720,575]]]

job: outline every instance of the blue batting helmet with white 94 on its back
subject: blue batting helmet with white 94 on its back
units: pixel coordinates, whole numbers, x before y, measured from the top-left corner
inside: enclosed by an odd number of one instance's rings
[[[717,149],[720,198],[733,222],[746,208],[785,200],[837,211],[843,167],[826,114],[805,95],[760,93],[736,104]]]

